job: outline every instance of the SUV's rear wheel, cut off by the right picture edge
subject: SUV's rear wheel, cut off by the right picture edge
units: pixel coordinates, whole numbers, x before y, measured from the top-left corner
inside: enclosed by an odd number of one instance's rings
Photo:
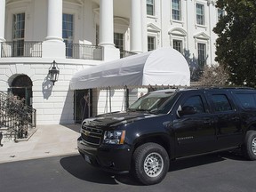
[[[251,161],[256,160],[256,131],[246,133],[242,152],[245,158]]]

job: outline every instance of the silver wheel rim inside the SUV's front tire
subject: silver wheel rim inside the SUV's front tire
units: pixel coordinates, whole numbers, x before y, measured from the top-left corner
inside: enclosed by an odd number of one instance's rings
[[[148,177],[158,176],[164,169],[164,160],[158,153],[150,153],[144,161],[144,171]]]

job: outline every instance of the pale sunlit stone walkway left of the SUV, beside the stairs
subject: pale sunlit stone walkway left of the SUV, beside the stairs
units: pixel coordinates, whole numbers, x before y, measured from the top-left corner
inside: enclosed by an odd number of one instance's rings
[[[2,140],[0,164],[51,156],[78,154],[80,124],[37,125],[36,132],[19,142]]]

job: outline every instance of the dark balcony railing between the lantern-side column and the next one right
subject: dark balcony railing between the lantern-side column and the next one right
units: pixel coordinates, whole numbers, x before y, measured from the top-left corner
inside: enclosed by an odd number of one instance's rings
[[[66,44],[66,57],[82,60],[102,60],[103,48],[91,44]]]

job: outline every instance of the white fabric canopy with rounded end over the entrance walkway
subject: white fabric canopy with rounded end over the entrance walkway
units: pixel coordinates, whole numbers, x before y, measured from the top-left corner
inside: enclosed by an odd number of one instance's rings
[[[190,85],[188,62],[172,48],[132,55],[77,72],[70,88],[89,89],[145,85]]]

